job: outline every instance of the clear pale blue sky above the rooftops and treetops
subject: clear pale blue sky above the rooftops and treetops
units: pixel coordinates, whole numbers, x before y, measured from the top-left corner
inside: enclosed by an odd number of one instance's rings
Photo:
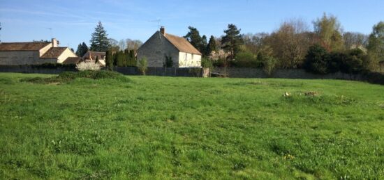
[[[52,36],[61,46],[74,49],[80,42],[89,44],[100,20],[109,38],[131,38],[145,42],[157,29],[185,35],[188,26],[200,34],[223,35],[230,23],[242,33],[270,33],[286,19],[302,18],[312,28],[313,19],[330,13],[338,17],[344,31],[371,33],[384,20],[383,0],[162,0],[162,1],[72,1],[0,0],[2,42],[48,40]]]

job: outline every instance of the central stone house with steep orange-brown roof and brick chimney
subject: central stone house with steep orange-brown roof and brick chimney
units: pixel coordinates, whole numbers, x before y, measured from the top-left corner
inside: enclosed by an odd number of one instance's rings
[[[172,60],[173,67],[201,67],[201,53],[185,38],[165,33],[162,26],[138,49],[137,59],[147,58],[149,67],[164,67]]]

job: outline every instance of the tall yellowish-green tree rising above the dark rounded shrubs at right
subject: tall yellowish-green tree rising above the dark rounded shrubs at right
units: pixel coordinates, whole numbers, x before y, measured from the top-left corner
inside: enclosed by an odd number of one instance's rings
[[[316,35],[320,44],[328,51],[339,51],[343,48],[343,39],[341,37],[341,25],[337,17],[333,15],[323,17],[313,22]]]

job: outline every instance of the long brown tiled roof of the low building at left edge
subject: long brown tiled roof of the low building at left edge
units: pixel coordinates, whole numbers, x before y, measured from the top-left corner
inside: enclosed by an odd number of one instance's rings
[[[0,51],[38,51],[51,42],[1,42]]]

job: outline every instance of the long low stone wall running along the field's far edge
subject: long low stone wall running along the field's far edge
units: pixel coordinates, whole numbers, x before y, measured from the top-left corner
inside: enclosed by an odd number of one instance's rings
[[[104,67],[104,69],[106,69]],[[140,75],[138,67],[114,67],[115,72],[125,75]],[[0,72],[18,72],[18,73],[38,73],[38,74],[59,74],[61,72],[75,72],[74,66],[63,65],[0,65]],[[223,67],[211,69],[213,74],[224,74]],[[202,76],[202,68],[177,68],[177,67],[148,67],[149,76]],[[286,79],[344,79],[353,81],[368,81],[384,85],[384,74],[378,72],[368,72],[364,74],[344,74],[337,72],[334,74],[311,74],[304,69],[277,69],[272,76],[267,76],[263,69],[246,67],[228,67],[226,74],[232,78],[286,78]]]

